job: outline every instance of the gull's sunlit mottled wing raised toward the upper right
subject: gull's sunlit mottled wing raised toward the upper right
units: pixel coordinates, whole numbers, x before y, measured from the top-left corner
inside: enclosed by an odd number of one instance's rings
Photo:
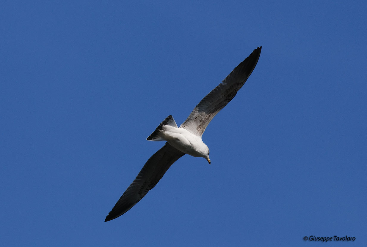
[[[221,84],[208,93],[181,124],[181,128],[201,136],[211,119],[235,97],[237,91],[245,84],[259,60],[260,52],[261,47],[255,49]]]

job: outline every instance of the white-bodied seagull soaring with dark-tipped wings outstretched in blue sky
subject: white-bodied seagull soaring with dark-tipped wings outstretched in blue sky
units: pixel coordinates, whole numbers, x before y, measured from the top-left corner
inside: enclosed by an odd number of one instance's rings
[[[235,97],[245,84],[259,60],[261,47],[241,62],[217,87],[205,96],[189,117],[177,126],[169,115],[154,130],[147,140],[167,141],[166,144],[148,159],[135,180],[126,189],[115,207],[106,216],[105,222],[120,217],[153,189],[167,172],[168,168],[185,154],[203,157],[209,164],[209,148],[201,140],[211,119]]]

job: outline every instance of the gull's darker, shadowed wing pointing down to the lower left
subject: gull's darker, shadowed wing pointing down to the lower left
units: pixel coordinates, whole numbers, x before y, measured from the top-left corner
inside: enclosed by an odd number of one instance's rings
[[[109,212],[105,221],[113,220],[131,209],[156,186],[168,168],[185,153],[166,143],[148,159],[135,180],[126,189],[115,207]]]

